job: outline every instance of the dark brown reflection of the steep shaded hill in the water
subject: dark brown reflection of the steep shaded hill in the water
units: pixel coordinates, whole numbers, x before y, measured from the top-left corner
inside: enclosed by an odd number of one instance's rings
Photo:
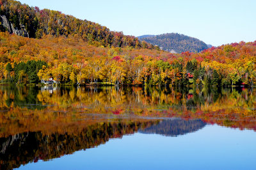
[[[0,138],[0,169],[12,169],[37,160],[49,160],[74,151],[93,148],[110,138],[133,134],[139,128],[152,125],[154,121],[129,121],[95,123],[81,131],[59,134],[24,132]]]

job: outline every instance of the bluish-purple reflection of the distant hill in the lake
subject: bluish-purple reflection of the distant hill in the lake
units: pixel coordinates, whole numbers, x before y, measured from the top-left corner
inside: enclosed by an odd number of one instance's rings
[[[163,120],[157,125],[140,130],[143,134],[161,134],[166,136],[184,135],[205,127],[202,120]]]

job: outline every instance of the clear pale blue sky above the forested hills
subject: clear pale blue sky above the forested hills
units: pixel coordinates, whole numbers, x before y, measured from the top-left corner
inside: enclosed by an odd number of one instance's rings
[[[125,35],[182,33],[205,43],[222,45],[256,40],[253,0],[20,0],[91,20]]]

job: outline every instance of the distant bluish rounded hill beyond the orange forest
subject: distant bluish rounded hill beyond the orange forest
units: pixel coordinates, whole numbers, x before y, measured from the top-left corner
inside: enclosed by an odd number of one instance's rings
[[[178,33],[166,33],[163,35],[143,35],[138,36],[140,40],[158,45],[161,49],[172,52],[200,52],[208,49],[207,44],[190,36]]]

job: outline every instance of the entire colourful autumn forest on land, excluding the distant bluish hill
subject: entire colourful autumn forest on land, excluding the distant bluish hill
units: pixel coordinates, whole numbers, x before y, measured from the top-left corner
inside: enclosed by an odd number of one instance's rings
[[[256,42],[172,54],[134,36],[1,0],[2,84],[253,86]]]

